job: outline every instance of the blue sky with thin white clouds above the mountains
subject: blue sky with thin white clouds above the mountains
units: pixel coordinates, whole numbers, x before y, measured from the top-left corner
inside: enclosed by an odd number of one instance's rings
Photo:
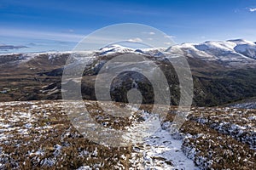
[[[255,0],[0,0],[0,44],[71,50],[92,31],[127,22],[153,26],[177,43],[256,41],[255,20]]]

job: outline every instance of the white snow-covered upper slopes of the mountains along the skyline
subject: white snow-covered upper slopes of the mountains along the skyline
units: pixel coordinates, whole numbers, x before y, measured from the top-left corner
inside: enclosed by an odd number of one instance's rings
[[[236,39],[228,41],[209,41],[202,43],[183,43],[174,45],[170,48],[127,48],[119,44],[111,44],[96,51],[84,51],[79,53],[89,53],[94,56],[106,56],[112,54],[143,54],[157,57],[158,59],[166,56],[186,56],[189,58],[202,59],[206,61],[216,61],[221,65],[255,65],[256,64],[256,44],[247,40]],[[49,52],[32,54],[0,54],[1,59],[5,56],[20,56],[18,60],[22,62],[37,59],[40,55],[47,55],[50,61],[61,57],[63,54],[79,54],[77,52]],[[79,54],[84,56],[84,54]],[[86,54],[87,56],[87,54]],[[15,59],[17,60],[17,59]]]

